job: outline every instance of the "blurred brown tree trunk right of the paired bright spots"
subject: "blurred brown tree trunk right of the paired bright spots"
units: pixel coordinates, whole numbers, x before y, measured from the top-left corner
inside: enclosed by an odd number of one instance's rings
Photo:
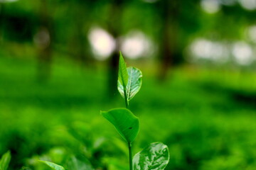
[[[178,33],[178,0],[159,1],[161,13],[161,35],[160,35],[160,69],[159,80],[167,78],[169,69],[173,66],[174,55],[177,50]]]

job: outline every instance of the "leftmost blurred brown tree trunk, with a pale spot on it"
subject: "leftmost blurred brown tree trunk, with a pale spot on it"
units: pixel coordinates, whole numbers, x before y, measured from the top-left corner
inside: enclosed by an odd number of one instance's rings
[[[47,81],[50,78],[52,63],[53,28],[48,13],[47,0],[41,0],[40,23],[34,37],[38,47],[38,81]]]

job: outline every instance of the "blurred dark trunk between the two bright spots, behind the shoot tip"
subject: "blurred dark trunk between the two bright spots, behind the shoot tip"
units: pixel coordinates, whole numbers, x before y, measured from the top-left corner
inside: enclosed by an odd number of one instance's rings
[[[109,96],[114,96],[117,94],[117,77],[118,77],[118,63],[119,63],[119,42],[117,38],[120,35],[121,29],[121,20],[122,20],[122,0],[112,0],[112,6],[110,9],[110,23],[109,23],[109,32],[116,40],[116,50],[110,57],[110,64],[109,64]]]

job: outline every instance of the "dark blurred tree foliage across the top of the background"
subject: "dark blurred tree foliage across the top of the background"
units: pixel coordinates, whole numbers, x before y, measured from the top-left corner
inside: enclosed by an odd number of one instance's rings
[[[50,48],[76,60],[85,55],[82,62],[90,65],[92,62],[87,59],[93,50],[87,36],[92,28],[104,28],[114,38],[140,30],[153,40],[157,51],[154,57],[163,58],[161,48],[166,44],[171,49],[167,55],[173,58],[169,62],[177,64],[189,57],[186,48],[196,38],[246,40],[245,30],[255,25],[256,15],[255,10],[244,8],[241,1],[1,1],[1,44],[7,44],[7,48],[8,42],[35,45],[36,33],[43,26],[50,32]],[[216,9],[209,13],[208,8]]]

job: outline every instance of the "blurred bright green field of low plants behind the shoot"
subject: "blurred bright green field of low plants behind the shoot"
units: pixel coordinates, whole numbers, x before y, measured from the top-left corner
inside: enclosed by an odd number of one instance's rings
[[[100,115],[125,107],[118,92],[108,96],[106,70],[55,61],[42,83],[36,69],[34,60],[0,57],[0,154],[11,150],[10,169],[46,169],[38,159],[65,165],[72,155],[95,169],[128,169],[125,142]],[[141,121],[134,153],[161,141],[170,151],[166,169],[256,169],[255,105],[229,90],[237,74],[185,67],[159,83],[146,70],[130,102]],[[248,82],[242,90],[255,90],[253,76],[240,76]]]

